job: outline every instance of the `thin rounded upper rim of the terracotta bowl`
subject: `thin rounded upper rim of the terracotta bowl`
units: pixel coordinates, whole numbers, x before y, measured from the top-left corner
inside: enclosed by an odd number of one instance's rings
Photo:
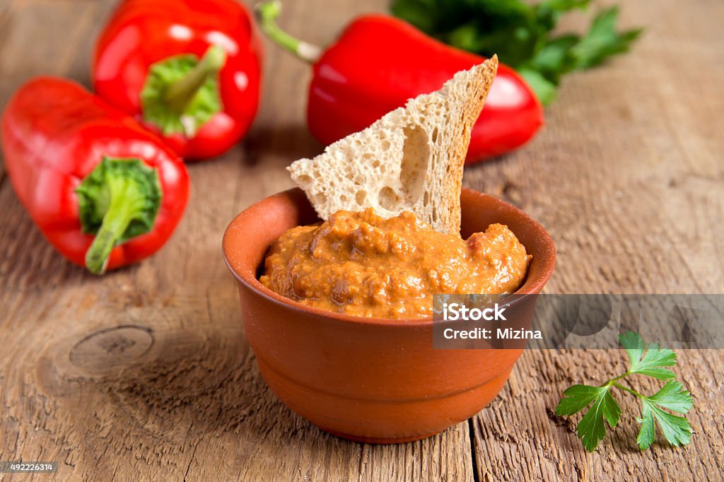
[[[425,317],[418,317],[418,318],[376,318],[371,316],[355,316],[355,315],[347,315],[345,313],[336,313],[334,311],[328,311],[323,310],[321,308],[316,308],[314,306],[310,305],[304,305],[303,303],[299,303],[296,300],[292,300],[291,298],[287,298],[285,296],[279,295],[279,293],[272,291],[271,289],[264,286],[264,284],[261,284],[259,280],[256,278],[256,271],[253,271],[253,276],[248,276],[248,274],[238,273],[234,267],[232,266],[231,262],[229,261],[229,258],[227,257],[226,253],[226,245],[227,245],[227,238],[232,236],[231,228],[232,226],[235,226],[237,224],[237,221],[245,214],[248,213],[249,210],[254,208],[255,206],[258,206],[258,204],[263,203],[265,200],[268,200],[269,198],[274,198],[276,196],[283,196],[287,195],[287,197],[295,192],[301,192],[299,187],[292,187],[292,189],[281,191],[279,193],[276,193],[271,196],[267,196],[266,198],[263,198],[261,200],[258,200],[256,203],[251,204],[251,206],[248,206],[240,213],[237,213],[236,216],[234,216],[234,219],[227,225],[227,228],[224,230],[224,237],[222,238],[222,255],[224,257],[224,263],[226,263],[227,268],[229,271],[231,271],[232,276],[239,282],[240,284],[243,284],[245,287],[250,289],[252,292],[256,292],[257,295],[261,295],[261,297],[264,297],[267,301],[274,303],[275,305],[281,305],[282,308],[287,308],[290,310],[293,310],[298,313],[303,313],[306,315],[315,315],[319,316],[321,318],[331,318],[337,321],[342,321],[346,323],[352,323],[352,324],[360,324],[360,325],[384,325],[384,326],[410,326],[410,327],[421,327],[421,326],[432,326],[433,324],[433,317],[432,316],[425,316]],[[502,199],[496,198],[495,196],[481,193],[479,191],[463,187],[463,193],[461,195],[472,195],[474,197],[478,198],[487,198],[487,201],[497,204],[498,206],[501,206],[505,208],[508,211],[515,212],[521,219],[525,221],[526,224],[530,224],[531,227],[534,228],[536,231],[536,234],[538,234],[537,239],[539,242],[543,245],[543,252],[548,255],[547,259],[544,259],[540,261],[542,263],[541,268],[538,270],[539,276],[536,276],[535,279],[531,279],[529,277],[529,274],[526,274],[526,279],[523,282],[523,285],[518,288],[515,292],[511,293],[511,295],[536,295],[540,292],[540,290],[543,288],[544,284],[548,282],[548,279],[550,279],[550,276],[553,273],[553,269],[555,268],[555,245],[553,243],[552,238],[550,237],[550,234],[546,231],[542,225],[533,219],[529,214],[527,214],[525,211],[523,211],[521,208],[518,208],[517,206],[513,206],[513,204],[510,204]],[[306,198],[305,198],[306,199]],[[528,248],[526,247],[526,250]],[[512,301],[510,301],[510,305],[513,305],[515,303],[518,303],[520,300],[522,300],[522,296],[515,297]]]

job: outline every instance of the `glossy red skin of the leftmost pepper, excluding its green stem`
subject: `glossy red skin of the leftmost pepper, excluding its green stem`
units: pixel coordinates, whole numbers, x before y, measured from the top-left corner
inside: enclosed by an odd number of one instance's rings
[[[181,219],[189,193],[182,159],[76,83],[39,77],[22,86],[3,113],[1,134],[17,197],[47,240],[79,266],[93,236],[81,232],[75,189],[103,156],[140,158],[156,169],[163,195],[153,229],[114,247],[107,269],[155,253]]]

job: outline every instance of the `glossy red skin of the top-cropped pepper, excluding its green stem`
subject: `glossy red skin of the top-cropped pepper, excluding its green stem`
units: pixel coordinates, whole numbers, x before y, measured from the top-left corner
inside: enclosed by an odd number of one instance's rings
[[[261,41],[247,9],[235,0],[125,0],[96,45],[93,88],[112,106],[141,119],[140,91],[151,64],[180,54],[201,57],[211,45],[227,52],[219,72],[222,111],[196,132],[161,135],[179,156],[203,160],[227,151],[258,110]]]

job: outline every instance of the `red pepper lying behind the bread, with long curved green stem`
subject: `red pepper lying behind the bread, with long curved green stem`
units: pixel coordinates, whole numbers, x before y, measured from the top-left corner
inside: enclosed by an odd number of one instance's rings
[[[337,41],[321,51],[279,30],[279,2],[261,4],[261,30],[300,58],[313,62],[307,119],[312,135],[327,145],[363,130],[409,98],[438,90],[455,72],[484,58],[445,45],[395,17],[358,17]],[[521,147],[543,124],[533,90],[500,64],[473,127],[467,162]]]

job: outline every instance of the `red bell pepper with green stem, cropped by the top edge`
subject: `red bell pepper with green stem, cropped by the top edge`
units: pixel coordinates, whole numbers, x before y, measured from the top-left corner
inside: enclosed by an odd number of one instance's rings
[[[235,0],[124,0],[96,46],[98,96],[184,158],[218,156],[243,138],[260,85],[261,41]]]

